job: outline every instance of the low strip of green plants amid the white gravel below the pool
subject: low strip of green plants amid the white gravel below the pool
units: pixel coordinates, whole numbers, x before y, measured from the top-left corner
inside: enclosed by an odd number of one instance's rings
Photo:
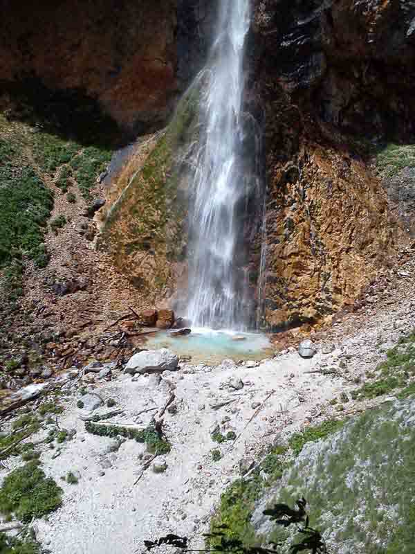
[[[136,440],[138,443],[146,443],[147,450],[151,454],[168,454],[172,449],[170,443],[154,425],[147,429],[129,429],[119,425],[97,425],[95,422],[87,421],[85,429],[93,435],[116,438],[118,435]]]

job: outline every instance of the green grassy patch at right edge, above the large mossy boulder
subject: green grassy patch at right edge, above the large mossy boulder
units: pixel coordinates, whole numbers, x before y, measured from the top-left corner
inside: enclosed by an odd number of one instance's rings
[[[365,383],[358,395],[375,398],[405,387],[415,376],[415,332],[407,334],[386,353],[386,360],[376,368],[378,378]]]

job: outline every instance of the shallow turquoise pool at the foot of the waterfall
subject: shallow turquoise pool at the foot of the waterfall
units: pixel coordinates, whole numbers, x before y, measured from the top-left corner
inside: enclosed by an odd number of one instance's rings
[[[146,348],[169,348],[178,356],[191,356],[194,364],[220,364],[225,358],[234,361],[261,360],[273,355],[273,347],[265,334],[227,330],[192,328],[185,337],[173,337],[168,331],[151,334]]]

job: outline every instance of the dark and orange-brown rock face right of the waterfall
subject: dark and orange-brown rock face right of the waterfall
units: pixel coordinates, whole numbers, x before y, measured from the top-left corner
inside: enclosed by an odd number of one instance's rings
[[[414,160],[401,156],[400,173],[382,186],[373,155],[414,136],[414,17],[404,0],[255,0],[252,96],[265,114],[255,102],[251,110],[265,121],[268,327],[351,305],[414,229],[413,170],[403,169]],[[259,253],[258,244],[255,265]]]

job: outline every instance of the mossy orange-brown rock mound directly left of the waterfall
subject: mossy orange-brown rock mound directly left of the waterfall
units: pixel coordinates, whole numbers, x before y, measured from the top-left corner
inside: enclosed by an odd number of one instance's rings
[[[138,146],[98,240],[131,283],[152,294],[173,288],[172,266],[185,257],[187,183],[178,162],[196,132],[198,98],[199,89],[190,90],[165,131]]]

